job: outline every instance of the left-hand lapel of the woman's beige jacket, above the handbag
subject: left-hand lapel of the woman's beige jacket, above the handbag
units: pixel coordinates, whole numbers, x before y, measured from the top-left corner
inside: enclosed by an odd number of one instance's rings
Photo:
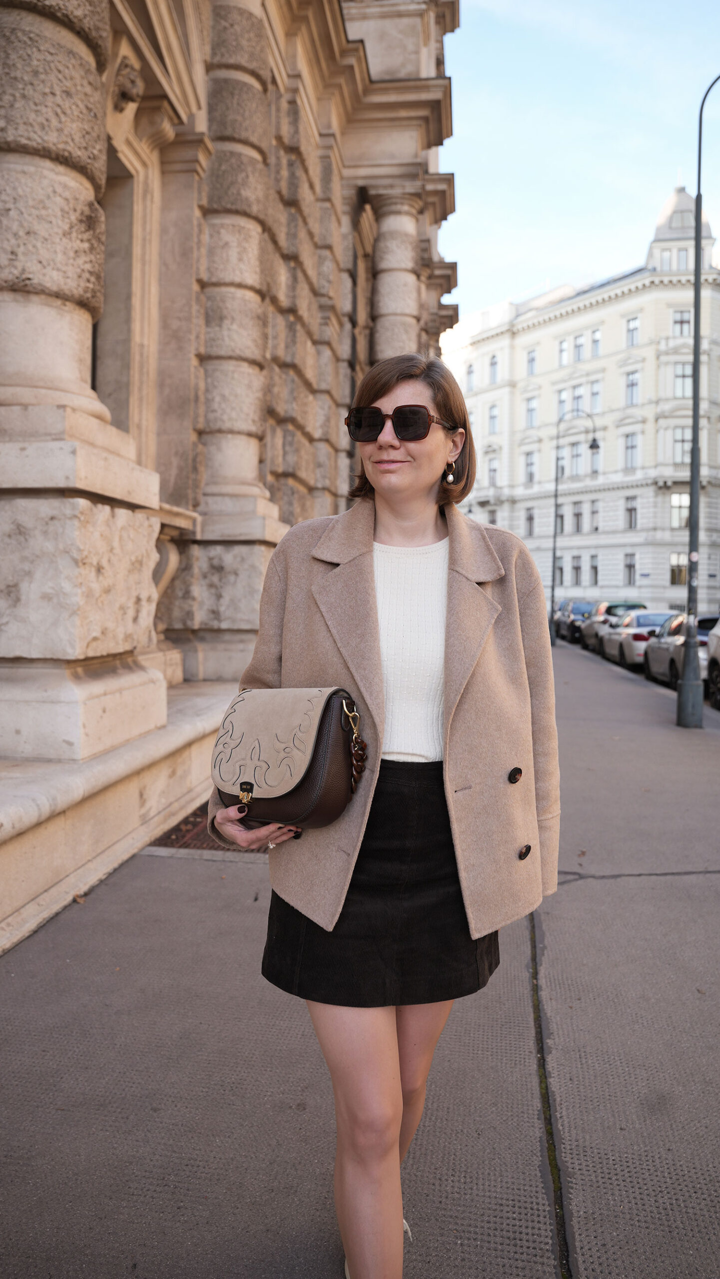
[[[372,564],[373,531],[375,505],[366,499],[335,517],[315,547],[313,558],[336,568],[315,585],[312,593],[382,741],[385,697]]]

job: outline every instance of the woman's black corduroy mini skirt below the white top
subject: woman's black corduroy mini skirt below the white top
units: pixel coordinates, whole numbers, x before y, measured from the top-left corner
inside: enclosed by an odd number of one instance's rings
[[[381,761],[331,932],[271,895],[262,975],[302,999],[345,1008],[432,1004],[472,995],[499,962],[497,932],[476,941],[469,934],[441,762]]]

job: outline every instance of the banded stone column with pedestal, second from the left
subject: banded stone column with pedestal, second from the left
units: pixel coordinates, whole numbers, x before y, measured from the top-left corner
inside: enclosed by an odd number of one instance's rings
[[[247,665],[272,547],[285,532],[260,475],[266,434],[269,56],[260,0],[212,8],[205,278],[205,478],[200,536],[180,547],[164,600],[185,679]]]

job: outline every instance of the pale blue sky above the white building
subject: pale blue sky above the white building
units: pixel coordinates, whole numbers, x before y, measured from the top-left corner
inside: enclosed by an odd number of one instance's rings
[[[460,316],[645,262],[720,74],[717,0],[460,0],[445,37]],[[720,83],[703,115],[703,211],[720,240]],[[720,243],[714,261],[720,265]]]

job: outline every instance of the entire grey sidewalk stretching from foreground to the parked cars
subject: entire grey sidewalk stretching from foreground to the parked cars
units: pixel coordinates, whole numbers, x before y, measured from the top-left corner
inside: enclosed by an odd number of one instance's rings
[[[565,646],[556,678],[536,934],[572,1276],[720,1279],[720,715],[677,729]],[[331,1090],[260,977],[267,902],[258,854],[150,848],[0,959],[3,1279],[340,1279]],[[500,948],[436,1053],[407,1279],[559,1273],[528,921]]]

